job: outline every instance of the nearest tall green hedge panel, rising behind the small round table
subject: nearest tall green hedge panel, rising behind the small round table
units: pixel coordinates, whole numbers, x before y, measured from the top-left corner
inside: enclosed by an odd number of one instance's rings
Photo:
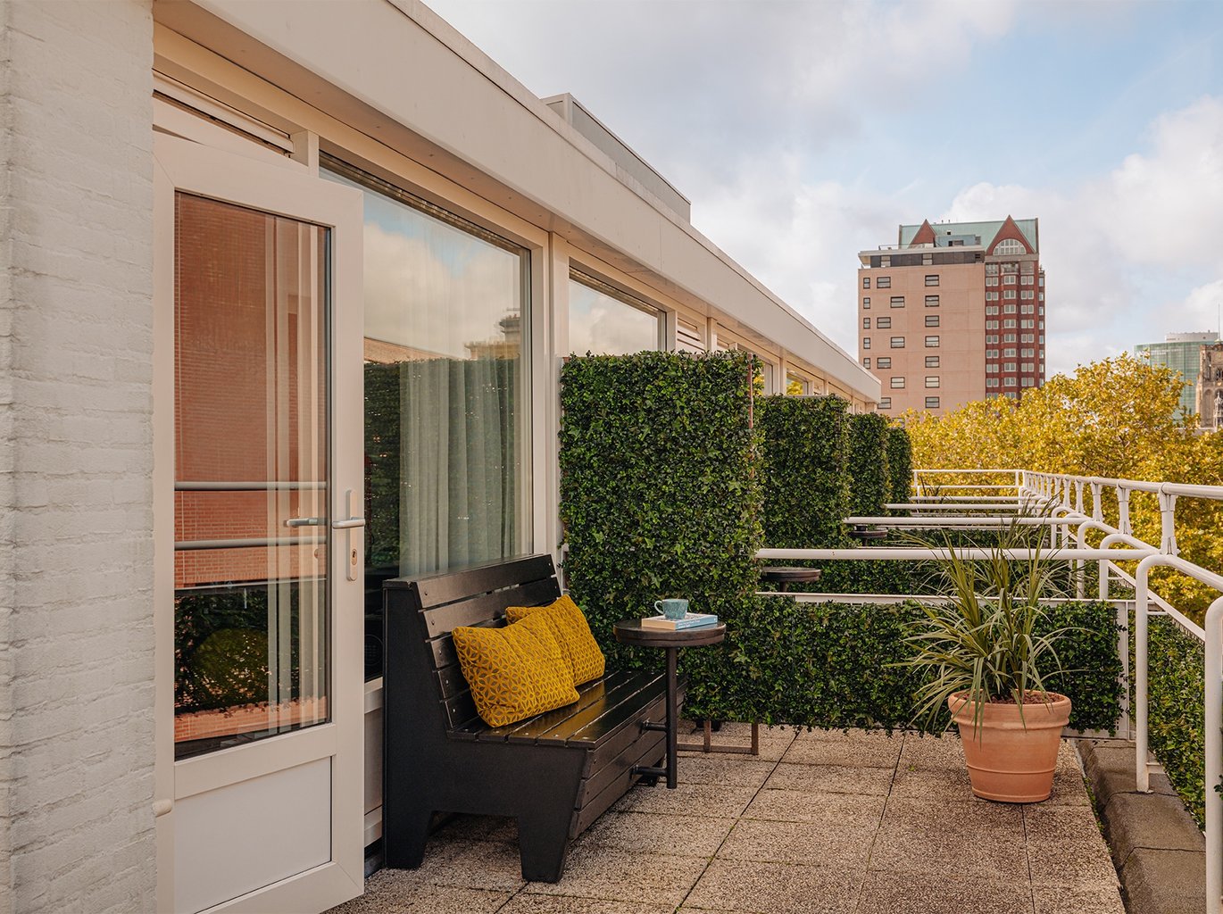
[[[640,352],[561,371],[565,573],[613,667],[660,662],[612,635],[660,597],[687,597],[733,628],[750,606],[762,546],[755,368],[739,352]],[[690,694],[717,688],[723,658],[685,658]]]

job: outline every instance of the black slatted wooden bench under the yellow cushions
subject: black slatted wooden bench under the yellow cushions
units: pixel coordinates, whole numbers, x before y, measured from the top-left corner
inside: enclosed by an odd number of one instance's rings
[[[660,765],[662,675],[609,673],[575,704],[505,727],[476,715],[451,629],[504,625],[506,607],[559,596],[549,555],[384,585],[388,866],[421,865],[437,812],[512,816],[522,877],[556,882],[569,842],[642,779],[635,766]]]

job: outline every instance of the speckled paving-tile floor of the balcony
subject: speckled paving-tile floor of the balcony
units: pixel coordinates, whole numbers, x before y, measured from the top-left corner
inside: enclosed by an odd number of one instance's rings
[[[976,799],[954,734],[762,728],[758,757],[686,754],[679,778],[630,792],[556,885],[522,881],[512,820],[460,817],[334,914],[1124,914],[1069,743],[1029,806]]]

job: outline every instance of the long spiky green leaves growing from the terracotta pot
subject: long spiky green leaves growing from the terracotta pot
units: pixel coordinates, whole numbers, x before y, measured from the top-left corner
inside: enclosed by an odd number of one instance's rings
[[[925,716],[933,724],[948,700],[964,693],[980,738],[987,704],[1014,702],[1022,719],[1024,704],[1032,693],[1048,701],[1044,678],[1062,669],[1057,646],[1073,629],[1037,634],[1044,617],[1040,601],[1057,595],[1058,587],[1055,553],[1043,542],[1046,527],[1021,522],[1033,516],[1044,515],[1016,513],[983,547],[988,555],[982,559],[967,558],[969,547],[958,544],[947,531],[933,542],[914,537],[915,542],[942,549],[938,574],[949,595],[945,603],[923,604],[923,615],[910,625],[905,637],[915,653],[901,666],[920,671],[925,683],[914,696],[915,718]],[[1011,558],[1010,549],[1020,554]]]

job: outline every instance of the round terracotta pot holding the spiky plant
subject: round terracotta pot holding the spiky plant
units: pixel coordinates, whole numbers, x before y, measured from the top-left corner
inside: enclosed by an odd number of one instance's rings
[[[1062,730],[1070,719],[1070,699],[1051,691],[1048,704],[1025,702],[1022,719],[1018,705],[986,705],[976,728],[976,707],[966,695],[956,693],[947,704],[960,728],[972,793],[1002,803],[1047,800]]]

